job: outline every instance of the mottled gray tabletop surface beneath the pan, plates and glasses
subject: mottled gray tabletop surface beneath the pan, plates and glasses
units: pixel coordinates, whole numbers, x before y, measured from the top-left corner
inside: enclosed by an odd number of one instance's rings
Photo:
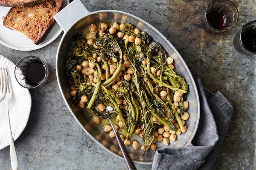
[[[116,9],[146,20],[180,52],[194,78],[212,91],[220,90],[234,104],[234,113],[214,170],[255,170],[256,161],[256,55],[242,55],[233,38],[255,20],[255,0],[233,0],[239,8],[235,28],[208,34],[200,20],[208,0],[83,0],[89,11]],[[32,110],[26,129],[15,142],[19,170],[126,170],[123,160],[96,145],[79,127],[61,98],[55,75],[58,37],[36,51],[15,51],[0,45],[0,54],[13,62],[27,55],[52,67],[51,81],[31,90]],[[151,165],[137,165],[150,170]],[[11,170],[9,147],[0,150],[0,170]]]

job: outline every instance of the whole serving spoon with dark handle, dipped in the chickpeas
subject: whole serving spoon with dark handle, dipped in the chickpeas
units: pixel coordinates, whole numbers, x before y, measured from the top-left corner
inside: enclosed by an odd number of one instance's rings
[[[95,114],[95,116],[99,117],[99,119],[108,119],[109,120],[109,122],[110,122],[110,124],[112,126],[112,129],[113,129],[113,131],[115,133],[118,145],[119,145],[119,147],[120,147],[120,149],[122,151],[122,154],[123,154],[123,157],[125,159],[125,162],[126,162],[126,165],[127,165],[128,169],[129,170],[137,170],[135,165],[134,165],[134,162],[131,159],[130,154],[128,153],[128,151],[127,151],[127,149],[125,147],[124,142],[122,142],[122,139],[121,139],[119,133],[117,132],[115,125],[113,124],[113,122],[111,120],[111,116],[110,116],[111,111],[113,111],[113,108],[111,106],[107,106],[106,110],[104,112],[105,116],[98,116],[98,115],[96,115],[96,113],[94,113],[94,112],[93,113]]]

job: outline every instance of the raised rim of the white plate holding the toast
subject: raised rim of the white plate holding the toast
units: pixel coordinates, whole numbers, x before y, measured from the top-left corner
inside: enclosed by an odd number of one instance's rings
[[[69,1],[69,0],[66,0],[66,5],[68,5],[69,3],[70,3],[70,1]],[[65,6],[62,6],[62,8],[64,8],[64,7],[65,7]],[[2,24],[2,23],[0,23],[0,24]],[[55,24],[58,25],[57,22],[55,22],[54,25],[55,25]],[[13,31],[15,31],[15,30],[13,30]],[[19,50],[19,51],[32,51],[32,50],[37,50],[37,49],[43,48],[43,47],[45,47],[46,45],[49,45],[51,42],[53,42],[53,41],[61,34],[61,32],[62,32],[62,29],[61,29],[61,27],[59,26],[58,32],[57,32],[51,39],[49,39],[49,40],[46,41],[46,42],[43,41],[41,44],[35,45],[35,46],[33,46],[33,47],[18,47],[18,46],[15,46],[15,45],[6,43],[6,42],[4,42],[4,41],[1,40],[1,39],[0,39],[0,44],[6,46],[6,47],[8,47],[8,48],[12,48],[12,49],[14,49],[14,50]],[[3,34],[3,33],[2,33],[2,34]]]

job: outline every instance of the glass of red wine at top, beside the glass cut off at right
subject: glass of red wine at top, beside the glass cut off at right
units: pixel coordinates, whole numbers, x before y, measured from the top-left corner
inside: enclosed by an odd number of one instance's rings
[[[209,4],[203,18],[203,28],[210,33],[220,33],[233,28],[238,20],[238,9],[230,0],[215,0]]]

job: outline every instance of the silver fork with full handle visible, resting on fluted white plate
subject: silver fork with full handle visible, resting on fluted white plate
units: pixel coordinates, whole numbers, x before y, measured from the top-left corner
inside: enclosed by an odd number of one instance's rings
[[[7,111],[7,117],[9,122],[9,132],[10,132],[10,158],[11,158],[11,165],[13,170],[17,170],[18,168],[18,160],[16,155],[16,150],[12,138],[12,129],[11,129],[11,123],[10,123],[10,116],[9,116],[9,102],[12,99],[12,84],[10,81],[10,77],[8,74],[7,68],[2,68],[1,73],[4,74],[3,76],[3,86],[5,86],[5,97],[3,99],[3,102],[6,105],[6,111]]]

